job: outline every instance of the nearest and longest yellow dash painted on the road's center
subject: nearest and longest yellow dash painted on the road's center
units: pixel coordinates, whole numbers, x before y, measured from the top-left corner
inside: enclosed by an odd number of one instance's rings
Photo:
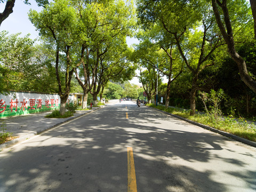
[[[132,147],[127,147],[127,163],[128,163],[128,192],[137,192],[135,167]]]

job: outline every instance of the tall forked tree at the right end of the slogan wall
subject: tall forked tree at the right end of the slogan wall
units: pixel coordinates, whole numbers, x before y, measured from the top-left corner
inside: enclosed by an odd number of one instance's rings
[[[81,65],[84,58],[84,46],[81,48],[80,59],[74,63],[77,44],[79,44],[79,33],[77,30],[76,10],[70,1],[57,0],[46,5],[42,12],[30,10],[29,19],[39,30],[39,35],[45,41],[54,43],[56,46],[55,73],[58,82],[58,93],[60,95],[60,114],[65,113],[65,104],[70,92],[71,78],[76,67]],[[60,78],[61,66],[59,63],[61,52],[65,53],[65,86]]]

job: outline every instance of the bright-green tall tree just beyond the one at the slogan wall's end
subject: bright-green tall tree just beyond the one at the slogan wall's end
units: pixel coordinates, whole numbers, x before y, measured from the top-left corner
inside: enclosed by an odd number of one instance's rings
[[[94,102],[97,102],[101,87],[108,81],[106,67],[103,67],[104,63],[108,62],[104,61],[108,58],[105,55],[113,50],[117,39],[123,42],[126,35],[131,35],[135,25],[134,7],[131,2],[125,4],[120,0],[86,3],[77,5],[81,28],[85,31],[82,39],[86,47],[86,60],[82,69],[83,81],[76,73],[76,78],[84,90],[83,103],[86,103],[86,94],[89,92],[93,95]],[[85,105],[83,107],[86,107]]]

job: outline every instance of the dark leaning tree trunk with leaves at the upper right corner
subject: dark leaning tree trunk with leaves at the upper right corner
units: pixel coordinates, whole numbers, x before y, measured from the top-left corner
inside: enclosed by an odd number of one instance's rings
[[[255,23],[255,1],[251,1],[254,23]],[[235,1],[227,3],[227,0],[220,2],[219,0],[212,0],[212,8],[214,11],[215,19],[218,23],[218,27],[221,31],[223,38],[225,39],[228,46],[228,53],[231,58],[236,62],[239,75],[241,76],[243,82],[250,87],[250,89],[256,93],[256,82],[249,75],[246,67],[245,60],[239,55],[235,47],[235,33],[234,28],[242,28],[244,23],[250,23],[250,7],[247,5],[246,1]],[[235,10],[233,14],[230,15],[230,9]],[[237,14],[237,12],[239,14]],[[238,15],[238,17],[235,17]],[[245,17],[242,17],[245,16]],[[232,20],[233,19],[233,20]],[[251,20],[252,21],[252,20]],[[253,24],[252,24],[253,25]],[[252,26],[251,25],[251,26]],[[255,36],[254,36],[255,37]]]

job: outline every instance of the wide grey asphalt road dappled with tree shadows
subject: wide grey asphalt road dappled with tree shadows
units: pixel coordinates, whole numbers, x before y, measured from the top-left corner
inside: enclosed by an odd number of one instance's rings
[[[256,191],[256,150],[124,101],[0,153],[0,192],[127,188]]]

